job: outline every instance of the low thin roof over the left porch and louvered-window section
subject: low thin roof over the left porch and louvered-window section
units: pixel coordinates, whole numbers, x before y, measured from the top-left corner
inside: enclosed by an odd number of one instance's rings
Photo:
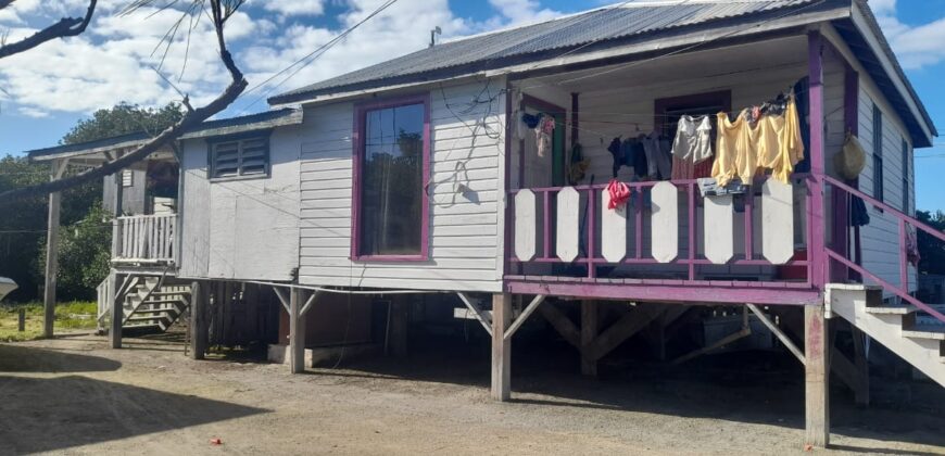
[[[290,117],[293,115],[300,114],[300,110],[286,107],[281,110],[273,110],[266,111],[257,114],[250,114],[240,117],[230,117],[230,118],[220,118],[216,121],[206,121],[193,128],[187,129],[187,131],[181,136],[181,138],[194,137],[198,136],[201,131],[207,130],[216,130],[220,128],[227,127],[237,127],[237,126],[251,126],[253,124],[263,124],[269,123],[273,121],[281,119],[285,117]],[[29,159],[40,159],[49,155],[60,155],[60,154],[68,154],[74,152],[83,152],[89,151],[93,149],[108,148],[112,145],[125,144],[125,143],[138,143],[143,142],[151,139],[153,135],[150,135],[144,131],[128,134],[116,136],[112,138],[103,138],[96,141],[88,142],[79,142],[75,144],[63,144],[56,145],[52,148],[45,149],[36,149],[32,151],[27,151],[26,155]]]

